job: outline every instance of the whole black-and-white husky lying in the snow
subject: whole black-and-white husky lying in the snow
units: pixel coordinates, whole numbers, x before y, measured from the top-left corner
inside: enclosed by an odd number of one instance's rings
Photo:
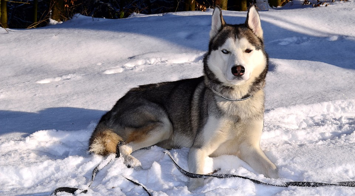
[[[102,116],[89,151],[105,156],[121,142],[125,164],[140,168],[133,151],[189,147],[190,172],[202,174],[207,156],[233,154],[277,178],[277,168],[260,149],[268,56],[255,6],[240,25],[226,24],[217,7],[209,36],[203,76],[132,88]],[[189,190],[202,185],[203,179],[190,179]]]

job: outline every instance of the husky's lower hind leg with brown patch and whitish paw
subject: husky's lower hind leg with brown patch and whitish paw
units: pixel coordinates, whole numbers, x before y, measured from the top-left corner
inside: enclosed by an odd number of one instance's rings
[[[130,128],[127,131],[126,144],[119,147],[122,157],[125,159],[127,167],[141,169],[140,161],[134,158],[131,153],[144,148],[153,146],[161,141],[168,140],[173,132],[173,125],[166,117],[159,122],[151,122],[140,128]]]

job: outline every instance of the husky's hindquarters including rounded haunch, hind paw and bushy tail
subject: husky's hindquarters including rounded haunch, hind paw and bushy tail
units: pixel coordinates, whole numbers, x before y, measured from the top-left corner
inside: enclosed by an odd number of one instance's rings
[[[89,152],[103,156],[116,153],[116,146],[123,141],[119,151],[125,164],[139,169],[141,163],[131,153],[164,140],[169,141],[173,125],[164,108],[158,104],[144,99],[126,102],[122,100],[122,103],[116,103],[102,117],[89,140]]]

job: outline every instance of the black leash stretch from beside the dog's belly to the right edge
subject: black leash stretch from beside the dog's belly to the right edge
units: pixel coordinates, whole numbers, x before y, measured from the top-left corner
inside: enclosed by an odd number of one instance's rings
[[[300,187],[320,187],[320,186],[349,186],[349,187],[355,187],[355,181],[347,181],[347,182],[340,182],[337,184],[330,184],[330,183],[313,183],[313,182],[302,182],[302,181],[292,181],[292,182],[286,182],[284,184],[270,184],[270,183],[264,183],[259,180],[247,178],[245,176],[239,176],[239,175],[233,175],[233,174],[195,174],[191,172],[187,172],[186,170],[182,169],[174,160],[173,156],[171,156],[169,151],[165,151],[165,154],[167,154],[170,159],[174,162],[176,168],[184,174],[185,176],[189,178],[207,178],[207,177],[215,177],[215,178],[242,178],[246,180],[250,180],[255,184],[260,184],[260,185],[268,185],[268,186],[279,186],[279,187],[289,187],[289,186],[300,186]]]

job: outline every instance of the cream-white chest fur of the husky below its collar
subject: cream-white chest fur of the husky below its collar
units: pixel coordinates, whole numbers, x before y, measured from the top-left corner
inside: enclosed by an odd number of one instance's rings
[[[239,155],[242,145],[259,146],[263,129],[264,94],[262,91],[244,101],[217,100],[224,113],[209,116],[203,129],[203,140],[210,156]]]

